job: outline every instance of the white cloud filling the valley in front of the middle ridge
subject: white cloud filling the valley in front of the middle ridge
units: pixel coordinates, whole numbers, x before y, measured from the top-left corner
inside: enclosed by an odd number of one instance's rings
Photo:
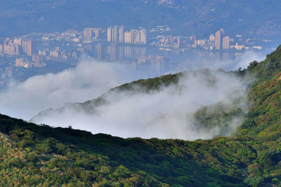
[[[248,83],[222,71],[193,71],[183,74],[178,84],[158,91],[110,92],[107,104],[93,106],[66,105],[63,109],[41,113],[33,122],[88,130],[119,137],[157,137],[161,139],[209,139],[229,135],[242,122],[238,114],[222,126],[220,121],[209,127],[200,126],[196,113],[204,106],[223,105],[227,112],[235,106],[246,112]],[[93,104],[91,102],[90,104]],[[211,109],[212,110],[212,109]],[[198,126],[199,125],[199,126]],[[207,124],[208,125],[208,124]],[[223,130],[222,130],[223,129]]]

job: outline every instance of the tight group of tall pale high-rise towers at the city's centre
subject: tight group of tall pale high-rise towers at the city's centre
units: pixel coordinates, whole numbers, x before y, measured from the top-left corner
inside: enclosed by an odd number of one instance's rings
[[[109,27],[107,29],[107,41],[115,43],[143,44],[147,43],[146,29],[131,29],[124,31],[124,26]]]

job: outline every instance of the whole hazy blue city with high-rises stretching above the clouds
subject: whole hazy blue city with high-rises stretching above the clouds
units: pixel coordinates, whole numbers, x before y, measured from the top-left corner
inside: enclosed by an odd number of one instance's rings
[[[126,29],[124,25],[108,28],[85,28],[81,32],[32,33],[6,38],[0,45],[0,85],[5,85],[21,69],[38,69],[51,62],[75,66],[82,55],[105,62],[119,62],[132,71],[145,74],[164,74],[173,63],[168,53],[181,55],[186,51],[207,55],[202,63],[225,61],[242,54],[244,50],[261,50],[261,46],[243,40],[242,36],[228,36],[223,29],[210,34],[208,39],[191,36],[173,36],[168,26],[157,26],[148,32],[145,28]],[[166,51],[166,52],[165,52]]]

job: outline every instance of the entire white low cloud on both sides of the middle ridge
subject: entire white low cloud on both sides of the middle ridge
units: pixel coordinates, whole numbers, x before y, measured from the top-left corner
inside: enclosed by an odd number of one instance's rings
[[[249,52],[235,62],[213,64],[211,69],[245,68],[255,58],[260,59]],[[0,112],[30,120],[39,111],[85,102],[133,80],[136,75],[124,65],[82,60],[77,67],[58,74],[34,76],[21,83],[11,81],[0,92]],[[222,71],[193,71],[184,74],[177,85],[158,91],[110,92],[104,96],[107,104],[91,106],[94,113],[79,104],[66,104],[63,109],[49,110],[32,120],[119,137],[209,139],[218,134],[227,136],[240,125],[243,120],[240,114],[247,112],[247,85],[248,82]],[[221,107],[209,107],[216,105]],[[204,106],[209,108],[204,110]],[[231,113],[233,106],[241,113],[227,123],[221,119],[204,120],[204,115],[217,118],[215,108],[221,113]]]

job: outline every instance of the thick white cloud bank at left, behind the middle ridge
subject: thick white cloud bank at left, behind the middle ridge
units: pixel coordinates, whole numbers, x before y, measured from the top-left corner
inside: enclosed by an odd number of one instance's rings
[[[0,92],[0,112],[29,120],[39,111],[93,99],[132,80],[133,75],[120,64],[83,60],[58,74],[33,76],[22,83],[11,81]]]

